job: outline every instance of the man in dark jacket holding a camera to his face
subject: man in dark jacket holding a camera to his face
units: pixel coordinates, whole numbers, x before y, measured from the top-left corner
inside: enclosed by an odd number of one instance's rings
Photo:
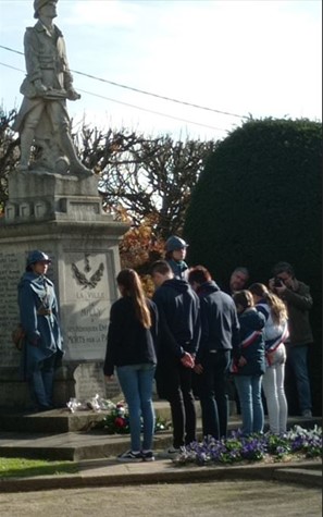
[[[309,310],[313,305],[310,288],[295,278],[288,262],[278,262],[273,268],[270,288],[287,306],[289,340],[286,342],[287,359],[294,371],[298,391],[299,408],[302,417],[312,416],[311,389],[308,374],[308,346],[313,343],[309,321]]]

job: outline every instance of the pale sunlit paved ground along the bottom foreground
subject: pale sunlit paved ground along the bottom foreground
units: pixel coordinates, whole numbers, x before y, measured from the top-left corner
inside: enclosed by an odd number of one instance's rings
[[[210,481],[0,494],[3,517],[321,517],[321,489]]]

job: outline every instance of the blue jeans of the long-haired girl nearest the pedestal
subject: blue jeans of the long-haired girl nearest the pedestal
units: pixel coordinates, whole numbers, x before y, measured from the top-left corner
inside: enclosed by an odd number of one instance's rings
[[[156,365],[127,365],[116,368],[119,382],[129,410],[132,451],[151,451],[154,432],[152,383]],[[144,441],[141,447],[141,416]]]

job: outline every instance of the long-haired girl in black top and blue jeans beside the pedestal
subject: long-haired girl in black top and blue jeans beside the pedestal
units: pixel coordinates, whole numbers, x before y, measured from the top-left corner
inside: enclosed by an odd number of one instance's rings
[[[116,282],[122,298],[111,307],[103,371],[107,381],[110,381],[116,367],[119,382],[128,405],[132,436],[132,450],[121,454],[117,459],[152,460],[152,385],[157,365],[158,310],[151,300],[145,298],[136,271],[121,271]]]

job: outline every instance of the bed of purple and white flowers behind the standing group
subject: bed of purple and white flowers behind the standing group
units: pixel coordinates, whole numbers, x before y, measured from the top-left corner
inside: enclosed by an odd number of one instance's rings
[[[296,426],[285,434],[253,434],[243,436],[232,432],[226,440],[204,439],[186,446],[176,465],[233,465],[241,461],[279,461],[290,457],[318,458],[322,456],[322,428],[312,430]]]

